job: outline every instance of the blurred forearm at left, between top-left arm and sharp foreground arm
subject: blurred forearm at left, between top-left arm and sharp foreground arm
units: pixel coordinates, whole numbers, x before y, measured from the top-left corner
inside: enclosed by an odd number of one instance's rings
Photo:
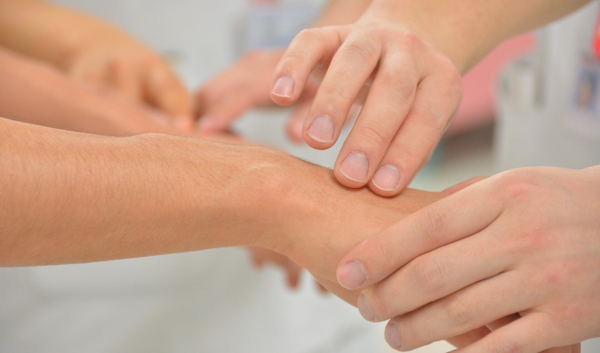
[[[0,116],[90,134],[169,132],[159,113],[123,101],[116,94],[95,92],[50,65],[2,48]]]

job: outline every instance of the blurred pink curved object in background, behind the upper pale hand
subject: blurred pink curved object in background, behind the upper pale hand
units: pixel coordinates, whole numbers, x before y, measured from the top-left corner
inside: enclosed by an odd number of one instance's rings
[[[446,136],[457,135],[494,120],[496,82],[500,72],[512,59],[532,52],[534,46],[535,35],[532,33],[509,39],[464,76],[463,102]]]

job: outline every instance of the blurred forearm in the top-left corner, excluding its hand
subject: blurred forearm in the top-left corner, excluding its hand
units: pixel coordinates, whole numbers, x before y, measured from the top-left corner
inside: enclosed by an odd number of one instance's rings
[[[0,0],[0,45],[61,68],[92,40],[124,34],[79,11],[42,0]]]

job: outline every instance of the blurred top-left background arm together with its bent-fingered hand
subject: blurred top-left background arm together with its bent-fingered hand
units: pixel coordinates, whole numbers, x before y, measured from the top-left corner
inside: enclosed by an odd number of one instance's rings
[[[0,46],[145,102],[169,117],[174,129],[194,126],[190,95],[169,65],[103,20],[41,0],[0,0]]]

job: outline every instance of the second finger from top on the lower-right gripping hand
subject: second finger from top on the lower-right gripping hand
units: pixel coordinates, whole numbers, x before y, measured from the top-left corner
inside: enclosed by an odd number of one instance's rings
[[[367,315],[365,319],[384,321],[412,312],[473,283],[502,273],[513,263],[515,257],[509,246],[490,246],[494,244],[497,233],[499,230],[490,231],[487,228],[479,234],[428,252],[410,261],[382,282],[365,289],[361,296],[362,303],[368,307],[368,310],[364,310]],[[485,325],[492,319],[479,322],[476,327]]]

